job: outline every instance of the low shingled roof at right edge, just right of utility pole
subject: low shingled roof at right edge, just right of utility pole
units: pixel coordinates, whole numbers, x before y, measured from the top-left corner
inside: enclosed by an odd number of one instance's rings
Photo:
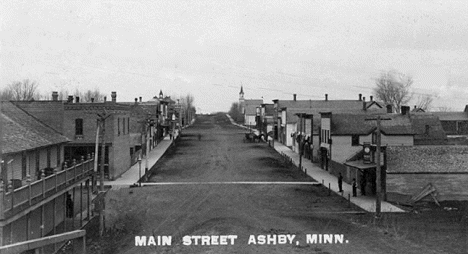
[[[468,172],[468,146],[387,147],[388,173]]]

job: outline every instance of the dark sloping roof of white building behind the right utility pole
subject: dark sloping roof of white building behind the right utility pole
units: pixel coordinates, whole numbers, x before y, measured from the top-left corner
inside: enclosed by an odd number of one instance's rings
[[[411,121],[408,116],[400,114],[381,114],[391,120],[381,121],[381,131],[385,135],[414,135]],[[332,114],[331,133],[333,135],[368,135],[376,128],[375,121],[366,121],[376,118],[377,114]]]

